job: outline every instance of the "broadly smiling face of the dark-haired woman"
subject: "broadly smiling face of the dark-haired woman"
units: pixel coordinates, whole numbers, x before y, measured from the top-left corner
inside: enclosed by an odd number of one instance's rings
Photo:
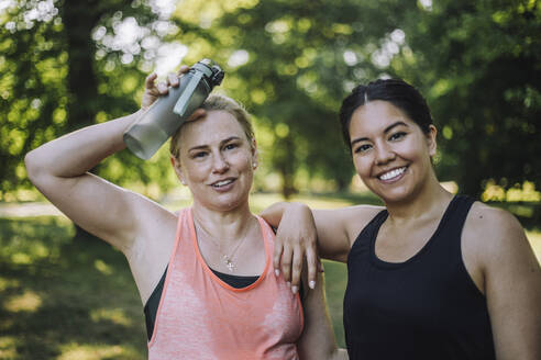
[[[423,133],[400,109],[375,100],[353,112],[349,130],[355,169],[385,203],[410,200],[435,177],[433,125]]]

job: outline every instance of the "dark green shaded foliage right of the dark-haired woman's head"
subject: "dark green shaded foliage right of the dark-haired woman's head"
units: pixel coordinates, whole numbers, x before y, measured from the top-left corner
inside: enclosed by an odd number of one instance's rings
[[[434,1],[401,24],[415,61],[391,67],[428,97],[442,178],[463,192],[541,187],[540,16],[538,1]]]

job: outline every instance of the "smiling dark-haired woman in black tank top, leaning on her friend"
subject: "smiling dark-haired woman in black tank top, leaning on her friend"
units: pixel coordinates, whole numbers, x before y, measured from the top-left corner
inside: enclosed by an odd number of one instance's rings
[[[316,230],[320,255],[347,262],[350,358],[541,359],[541,272],[525,232],[439,183],[422,95],[377,80],[353,90],[340,120],[356,172],[385,207],[281,203],[263,216],[279,223],[275,267],[283,256],[289,279],[292,263],[294,284]]]

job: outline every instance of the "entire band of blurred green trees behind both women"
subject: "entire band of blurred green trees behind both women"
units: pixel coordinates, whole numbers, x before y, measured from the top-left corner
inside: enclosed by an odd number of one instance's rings
[[[442,180],[539,189],[540,15],[534,0],[1,0],[0,195],[29,185],[27,150],[134,111],[146,74],[201,57],[255,116],[257,189],[347,190],[340,102],[388,77],[427,97]],[[166,156],[124,151],[97,171],[157,198],[176,183]]]

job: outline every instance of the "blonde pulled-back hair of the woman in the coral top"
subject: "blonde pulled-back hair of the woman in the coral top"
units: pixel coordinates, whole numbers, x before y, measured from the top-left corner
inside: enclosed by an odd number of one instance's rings
[[[244,134],[246,135],[246,138],[250,143],[250,146],[253,147],[254,130],[252,127],[252,123],[250,122],[250,114],[244,109],[244,106],[242,106],[240,103],[225,95],[211,94],[209,98],[207,98],[207,100],[205,100],[205,102],[200,108],[205,109],[206,111],[221,110],[233,115],[239,122],[239,124],[241,124],[242,130],[244,131]],[[180,125],[180,127],[176,131],[175,134],[173,134],[169,144],[169,153],[177,160],[179,160],[178,156],[180,153],[179,138],[185,124],[186,122],[183,125]]]

